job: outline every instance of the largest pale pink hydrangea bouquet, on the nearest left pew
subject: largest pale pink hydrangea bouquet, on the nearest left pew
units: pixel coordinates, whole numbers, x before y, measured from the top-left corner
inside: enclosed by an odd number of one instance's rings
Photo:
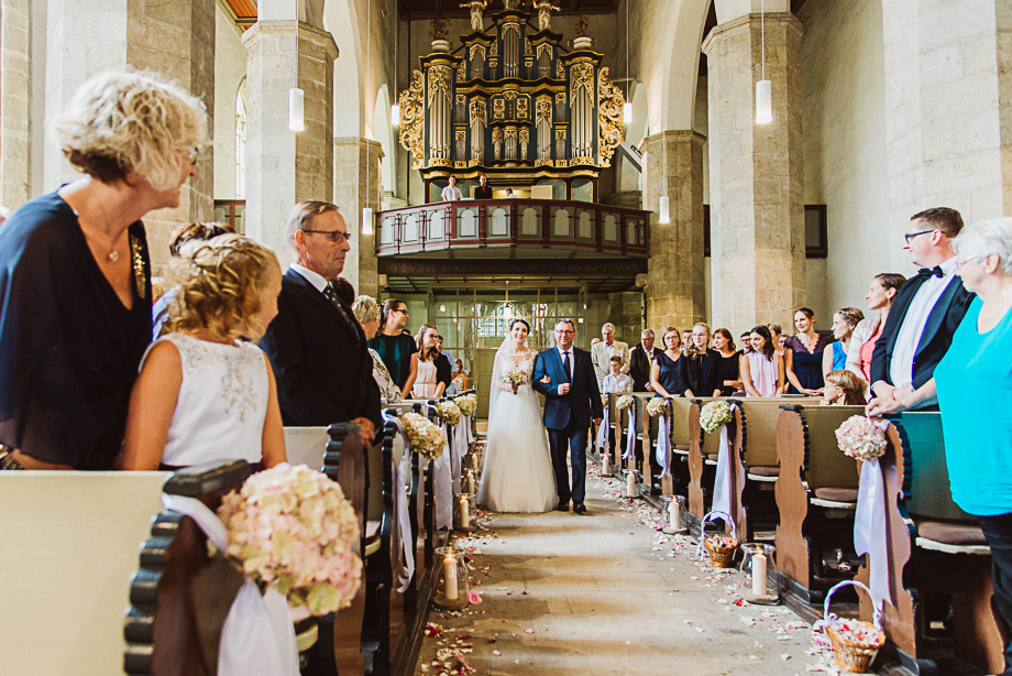
[[[346,607],[362,584],[352,550],[359,521],[341,487],[305,465],[287,462],[246,479],[221,501],[226,555],[298,613],[326,615]]]

